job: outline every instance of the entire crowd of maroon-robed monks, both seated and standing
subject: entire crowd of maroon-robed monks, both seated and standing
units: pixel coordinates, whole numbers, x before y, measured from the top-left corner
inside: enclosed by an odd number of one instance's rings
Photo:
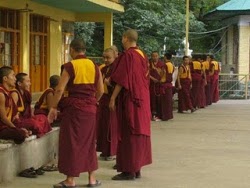
[[[81,39],[70,44],[72,60],[62,65],[61,75],[50,78],[31,110],[30,78],[0,68],[0,138],[22,143],[51,130],[60,110],[58,170],[66,176],[54,187],[76,187],[75,177],[88,172],[87,187],[101,185],[95,178],[97,153],[105,160],[116,158],[112,180],[141,178],[143,166],[152,163],[151,120],[173,119],[173,94],[178,92],[178,112],[204,108],[218,100],[219,65],[213,57],[184,56],[178,68],[171,53],[159,60],[158,52],[147,55],[137,45],[138,33],[123,33],[124,51],[111,46],[98,67],[85,55]]]

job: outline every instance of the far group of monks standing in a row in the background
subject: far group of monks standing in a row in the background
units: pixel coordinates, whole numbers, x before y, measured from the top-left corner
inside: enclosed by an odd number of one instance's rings
[[[150,104],[153,121],[173,119],[173,95],[178,93],[178,113],[193,113],[219,100],[219,63],[213,55],[183,56],[176,71],[166,53],[164,61],[157,51],[152,52],[150,65]]]

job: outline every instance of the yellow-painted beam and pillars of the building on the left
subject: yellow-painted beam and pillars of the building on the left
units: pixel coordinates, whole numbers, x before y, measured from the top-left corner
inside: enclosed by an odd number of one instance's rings
[[[113,13],[74,13],[35,3],[31,0],[1,0],[1,7],[21,12],[21,70],[29,73],[29,15],[39,14],[50,18],[48,77],[60,74],[62,58],[62,21],[103,22],[104,48],[113,44]],[[120,6],[120,5],[119,5]]]

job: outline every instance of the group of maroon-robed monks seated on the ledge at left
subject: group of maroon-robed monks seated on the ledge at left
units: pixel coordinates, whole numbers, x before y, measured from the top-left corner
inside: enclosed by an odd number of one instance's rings
[[[31,135],[39,138],[51,130],[48,113],[41,113],[42,109],[48,109],[49,97],[40,99],[45,105],[33,111],[30,86],[28,74],[15,75],[11,67],[0,68],[0,139],[21,144]]]

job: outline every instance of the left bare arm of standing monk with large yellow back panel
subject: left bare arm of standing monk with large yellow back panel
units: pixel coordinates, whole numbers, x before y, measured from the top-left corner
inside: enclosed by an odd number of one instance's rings
[[[64,69],[58,85],[56,86],[55,94],[52,100],[51,107],[57,108],[57,105],[63,95],[65,87],[70,79],[69,73]]]

